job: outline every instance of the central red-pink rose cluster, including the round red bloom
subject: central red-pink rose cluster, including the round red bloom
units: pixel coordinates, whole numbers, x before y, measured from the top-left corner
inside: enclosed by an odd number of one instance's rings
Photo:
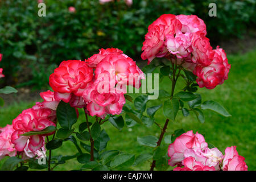
[[[100,49],[85,61],[63,61],[49,77],[55,100],[84,107],[88,114],[105,118],[120,114],[126,86],[141,86],[143,72],[117,48]]]

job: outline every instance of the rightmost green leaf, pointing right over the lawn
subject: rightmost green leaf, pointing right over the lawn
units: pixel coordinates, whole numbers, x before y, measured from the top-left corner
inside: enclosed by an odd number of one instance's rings
[[[225,117],[230,117],[231,116],[229,114],[229,112],[222,105],[220,105],[216,101],[205,101],[201,105],[201,109],[209,109],[209,110],[215,111],[216,113],[221,114]]]

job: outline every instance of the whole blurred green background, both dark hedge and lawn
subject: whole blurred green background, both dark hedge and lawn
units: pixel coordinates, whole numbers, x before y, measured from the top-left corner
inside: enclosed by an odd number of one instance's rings
[[[205,123],[197,122],[195,115],[184,118],[178,114],[176,122],[170,123],[167,133],[176,129],[193,130],[205,135],[207,142],[214,144],[222,153],[228,146],[237,146],[238,153],[245,157],[249,170],[255,170],[255,1],[189,1],[189,0],[141,0],[133,1],[128,7],[124,1],[100,5],[97,0],[53,1],[46,3],[46,17],[38,16],[38,2],[26,0],[0,1],[0,53],[5,78],[0,88],[11,85],[18,88],[18,94],[3,96],[6,106],[0,108],[0,127],[11,124],[22,110],[40,101],[39,91],[48,87],[49,75],[63,60],[84,60],[100,48],[115,47],[126,55],[141,60],[141,47],[147,27],[162,14],[196,14],[207,24],[207,37],[212,46],[221,45],[228,52],[231,69],[229,79],[213,90],[199,89],[204,100],[215,100],[224,105],[232,117],[205,112]],[[217,5],[217,17],[208,16],[209,3]],[[68,7],[76,8],[69,13]],[[160,83],[160,89],[170,90],[167,78]],[[177,90],[183,85],[178,85]],[[32,91],[31,91],[32,90]],[[34,90],[34,91],[33,91]],[[134,94],[133,97],[138,95]],[[160,101],[150,101],[157,104]],[[161,104],[161,103],[160,103]],[[80,113],[79,123],[84,121]],[[156,113],[156,120],[164,124],[162,110]],[[137,136],[156,135],[158,127],[148,129],[136,125],[124,127],[121,132],[110,123],[104,128],[111,140],[108,150],[121,150],[131,154],[151,152],[151,148],[140,146]],[[166,147],[168,144],[164,144]],[[72,143],[65,142],[53,155],[76,152]],[[0,166],[5,159],[0,161]],[[82,164],[70,160],[68,165],[56,169],[79,169]],[[148,170],[150,162],[133,169]]]

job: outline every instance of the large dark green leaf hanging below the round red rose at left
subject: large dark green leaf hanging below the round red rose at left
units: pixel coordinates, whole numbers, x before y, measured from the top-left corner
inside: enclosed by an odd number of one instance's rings
[[[71,130],[72,125],[77,122],[76,109],[71,107],[69,103],[60,101],[60,104],[57,106],[56,115],[57,121],[64,129]]]

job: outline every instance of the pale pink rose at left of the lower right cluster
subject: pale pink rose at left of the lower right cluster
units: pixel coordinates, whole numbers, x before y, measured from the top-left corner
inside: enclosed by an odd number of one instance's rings
[[[182,161],[184,160],[184,152],[193,149],[200,151],[207,147],[208,144],[205,142],[203,135],[196,133],[193,134],[193,131],[188,131],[177,137],[174,143],[171,143],[168,149],[169,159],[168,163],[170,166],[181,166]]]

